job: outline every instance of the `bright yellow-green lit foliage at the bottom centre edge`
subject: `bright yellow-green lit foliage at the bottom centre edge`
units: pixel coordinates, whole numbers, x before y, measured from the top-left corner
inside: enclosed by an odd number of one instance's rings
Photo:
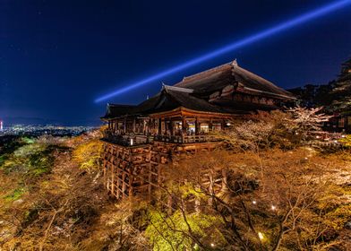
[[[154,250],[193,250],[197,249],[193,238],[209,245],[221,246],[225,239],[218,231],[222,221],[213,215],[191,213],[184,215],[176,211],[167,216],[158,211],[150,212],[150,225],[145,234],[154,244]],[[173,247],[173,248],[172,248]]]

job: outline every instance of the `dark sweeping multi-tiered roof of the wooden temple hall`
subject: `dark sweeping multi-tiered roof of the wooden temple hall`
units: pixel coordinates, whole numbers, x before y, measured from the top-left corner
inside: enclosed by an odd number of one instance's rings
[[[230,106],[209,102],[214,91],[221,91],[228,85],[237,92],[251,93],[263,97],[282,100],[294,99],[293,94],[273,83],[253,74],[237,65],[236,61],[184,77],[182,82],[174,86],[163,85],[157,95],[136,106],[107,105],[107,114],[102,118],[122,117],[129,115],[148,115],[183,107],[196,111],[215,113],[247,113],[254,109],[270,109],[273,106],[232,101]]]

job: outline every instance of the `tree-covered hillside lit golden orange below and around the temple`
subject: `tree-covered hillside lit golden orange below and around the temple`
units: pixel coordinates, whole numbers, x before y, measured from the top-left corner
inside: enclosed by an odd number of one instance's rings
[[[291,141],[281,116],[234,125],[225,137],[237,149],[168,167],[153,203],[109,199],[98,131],[8,139],[0,149],[0,250],[350,250],[349,149]],[[200,170],[226,170],[227,190],[204,192]]]

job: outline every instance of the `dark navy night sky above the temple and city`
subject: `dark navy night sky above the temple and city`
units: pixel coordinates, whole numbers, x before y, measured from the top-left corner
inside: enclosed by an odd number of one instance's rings
[[[97,125],[99,96],[330,1],[0,0],[0,119]],[[351,6],[181,73],[237,58],[283,88],[334,79],[351,56]],[[160,81],[111,103],[136,104]]]

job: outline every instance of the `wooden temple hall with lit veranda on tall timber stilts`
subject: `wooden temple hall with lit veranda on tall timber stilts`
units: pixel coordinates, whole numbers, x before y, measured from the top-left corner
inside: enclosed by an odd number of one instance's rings
[[[221,143],[214,132],[235,117],[277,109],[295,100],[236,61],[184,77],[139,105],[107,104],[102,141],[105,186],[117,199],[151,196],[161,186],[162,167]]]

